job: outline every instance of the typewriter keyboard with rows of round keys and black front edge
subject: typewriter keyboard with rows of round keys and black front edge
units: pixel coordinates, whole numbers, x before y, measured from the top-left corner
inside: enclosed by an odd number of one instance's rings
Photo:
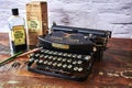
[[[69,79],[86,78],[91,67],[91,55],[42,48],[29,55],[32,70]]]

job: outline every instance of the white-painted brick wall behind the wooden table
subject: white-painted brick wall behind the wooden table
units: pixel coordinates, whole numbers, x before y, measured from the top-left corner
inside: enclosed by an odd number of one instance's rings
[[[12,7],[19,7],[20,14],[25,16],[25,4],[29,0],[0,0],[0,3],[1,1],[7,7],[0,6],[0,28],[2,23],[6,24]],[[132,38],[132,0],[47,0],[47,2],[50,26],[55,21],[57,24],[69,26],[110,30],[112,37]]]

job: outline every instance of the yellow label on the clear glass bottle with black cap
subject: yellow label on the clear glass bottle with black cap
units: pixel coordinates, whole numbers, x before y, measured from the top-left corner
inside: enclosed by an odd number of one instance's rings
[[[13,26],[11,34],[14,45],[25,44],[25,31],[23,25]]]

